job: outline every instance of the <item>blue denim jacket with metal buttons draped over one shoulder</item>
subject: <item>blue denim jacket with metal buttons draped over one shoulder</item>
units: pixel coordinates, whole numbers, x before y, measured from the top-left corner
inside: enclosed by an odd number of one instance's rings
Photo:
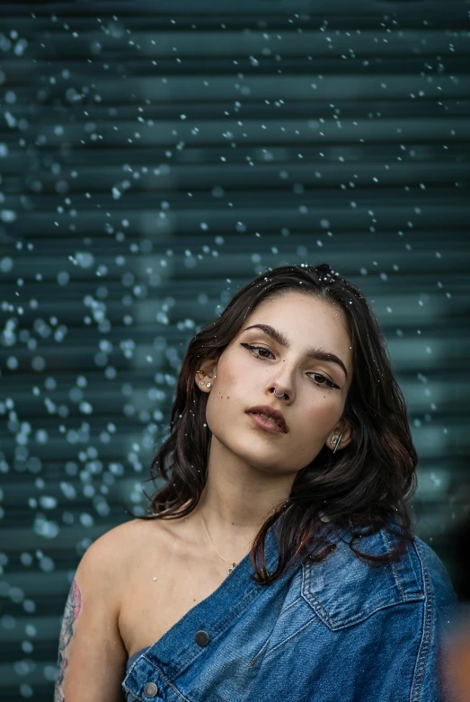
[[[274,529],[269,571],[278,559]],[[245,555],[206,600],[129,659],[128,702],[448,702],[439,660],[457,597],[438,555],[415,536],[400,561],[375,570],[329,538],[337,546],[323,562],[297,557],[269,586],[253,582]],[[355,546],[381,554],[395,539],[384,529]]]

